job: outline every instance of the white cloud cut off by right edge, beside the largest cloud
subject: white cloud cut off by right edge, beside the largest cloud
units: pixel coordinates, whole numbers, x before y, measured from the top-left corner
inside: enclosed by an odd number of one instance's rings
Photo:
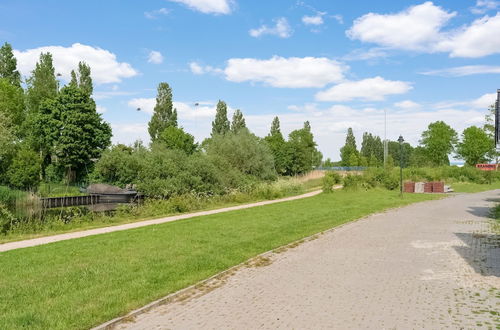
[[[436,45],[451,57],[483,57],[500,53],[500,13],[477,19],[471,25],[448,33]]]

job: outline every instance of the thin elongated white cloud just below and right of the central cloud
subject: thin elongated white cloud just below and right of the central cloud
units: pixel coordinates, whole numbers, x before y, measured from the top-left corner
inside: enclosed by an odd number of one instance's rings
[[[382,77],[368,78],[358,81],[346,81],[318,92],[318,101],[350,101],[360,99],[365,101],[382,101],[387,95],[404,94],[412,89],[404,81],[385,80]]]

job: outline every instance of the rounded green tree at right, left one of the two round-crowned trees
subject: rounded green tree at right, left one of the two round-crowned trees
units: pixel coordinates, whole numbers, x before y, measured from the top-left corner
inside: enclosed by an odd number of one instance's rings
[[[430,123],[420,140],[429,160],[436,166],[450,165],[448,155],[453,152],[456,142],[457,132],[443,121]]]

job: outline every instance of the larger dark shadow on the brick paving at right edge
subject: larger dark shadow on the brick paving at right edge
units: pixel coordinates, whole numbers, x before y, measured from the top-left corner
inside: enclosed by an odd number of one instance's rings
[[[500,235],[455,233],[466,246],[454,246],[457,253],[483,276],[500,277]]]

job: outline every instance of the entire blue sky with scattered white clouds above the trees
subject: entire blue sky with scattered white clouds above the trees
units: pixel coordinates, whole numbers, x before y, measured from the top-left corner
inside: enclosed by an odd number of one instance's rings
[[[79,60],[113,141],[148,141],[156,86],[173,88],[180,124],[210,133],[215,103],[259,136],[278,115],[310,120],[325,157],[348,127],[418,143],[432,121],[482,125],[500,88],[500,2],[2,1],[0,41],[24,76],[54,55],[62,82]],[[195,106],[198,103],[198,106]],[[141,111],[136,111],[140,107]]]

